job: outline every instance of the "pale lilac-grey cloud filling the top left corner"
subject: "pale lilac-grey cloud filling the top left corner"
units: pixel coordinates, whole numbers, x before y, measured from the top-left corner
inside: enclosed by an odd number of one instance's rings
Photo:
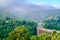
[[[0,0],[0,7],[13,6],[14,4],[22,4],[26,0]]]

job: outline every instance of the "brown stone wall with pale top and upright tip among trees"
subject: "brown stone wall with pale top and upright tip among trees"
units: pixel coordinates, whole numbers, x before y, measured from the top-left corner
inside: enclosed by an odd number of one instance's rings
[[[53,31],[54,31],[54,30],[43,28],[41,22],[38,24],[38,27],[37,27],[37,34],[51,33],[51,32],[53,32]],[[60,32],[60,31],[56,31],[56,32]]]

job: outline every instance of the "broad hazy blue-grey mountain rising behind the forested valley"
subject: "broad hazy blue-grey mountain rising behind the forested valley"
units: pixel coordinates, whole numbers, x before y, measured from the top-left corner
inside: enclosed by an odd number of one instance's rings
[[[60,15],[60,9],[56,9],[52,6],[47,5],[35,5],[35,4],[27,4],[22,5],[23,7],[19,6],[16,9],[17,11],[13,11],[16,17],[20,17],[24,20],[33,20],[33,21],[40,21],[45,19],[48,16],[53,15]]]

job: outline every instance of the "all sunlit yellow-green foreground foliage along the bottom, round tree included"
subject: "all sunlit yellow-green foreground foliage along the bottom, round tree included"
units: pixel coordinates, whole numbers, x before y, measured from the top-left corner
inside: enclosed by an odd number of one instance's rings
[[[7,40],[60,40],[60,33],[53,31],[52,33],[30,36],[29,31],[22,26],[10,32]]]

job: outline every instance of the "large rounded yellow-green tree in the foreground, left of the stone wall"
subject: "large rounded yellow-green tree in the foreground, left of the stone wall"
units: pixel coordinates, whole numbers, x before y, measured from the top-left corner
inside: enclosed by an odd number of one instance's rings
[[[9,33],[7,40],[30,40],[30,35],[24,26],[17,27]]]

